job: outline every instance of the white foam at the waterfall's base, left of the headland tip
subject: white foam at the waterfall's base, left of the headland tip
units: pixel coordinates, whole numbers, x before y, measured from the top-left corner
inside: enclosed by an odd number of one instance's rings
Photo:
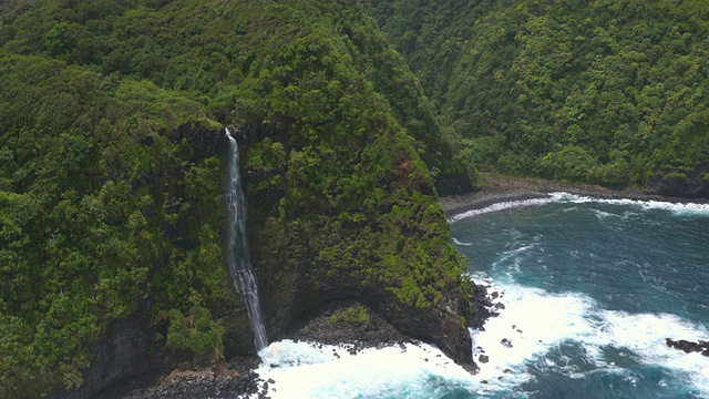
[[[337,355],[336,355],[337,354]],[[278,398],[435,398],[446,390],[479,389],[472,376],[439,349],[405,345],[350,355],[330,345],[282,340],[259,352],[256,370],[273,379],[269,397]]]

